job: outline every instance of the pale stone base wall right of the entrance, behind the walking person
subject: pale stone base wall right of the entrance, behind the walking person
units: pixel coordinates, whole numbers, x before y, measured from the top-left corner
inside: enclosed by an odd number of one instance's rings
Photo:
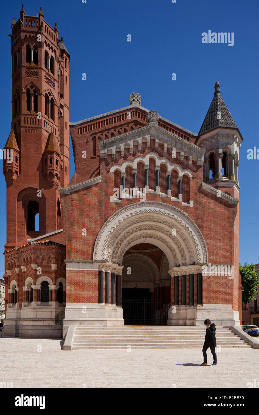
[[[215,325],[240,325],[239,312],[231,304],[173,305],[168,310],[168,326],[202,326],[208,318]]]

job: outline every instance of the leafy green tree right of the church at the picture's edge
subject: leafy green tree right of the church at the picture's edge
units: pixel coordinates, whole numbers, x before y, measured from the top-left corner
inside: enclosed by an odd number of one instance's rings
[[[251,304],[255,300],[254,295],[258,294],[259,274],[255,272],[254,264],[248,265],[247,262],[244,266],[239,264],[239,272],[242,277],[242,300],[245,304]]]

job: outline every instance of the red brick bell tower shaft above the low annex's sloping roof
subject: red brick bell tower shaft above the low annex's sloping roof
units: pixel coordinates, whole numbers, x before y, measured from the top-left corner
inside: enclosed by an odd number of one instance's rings
[[[35,17],[27,16],[22,5],[11,27],[5,251],[62,228],[58,187],[69,183],[69,52],[59,40],[57,23],[52,29],[44,21],[42,7]]]

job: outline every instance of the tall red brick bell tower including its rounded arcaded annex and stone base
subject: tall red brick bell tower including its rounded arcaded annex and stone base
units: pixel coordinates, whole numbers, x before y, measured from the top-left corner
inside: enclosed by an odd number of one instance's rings
[[[66,303],[59,187],[69,183],[70,56],[24,5],[12,20],[12,128],[5,144],[5,334],[62,336]]]

